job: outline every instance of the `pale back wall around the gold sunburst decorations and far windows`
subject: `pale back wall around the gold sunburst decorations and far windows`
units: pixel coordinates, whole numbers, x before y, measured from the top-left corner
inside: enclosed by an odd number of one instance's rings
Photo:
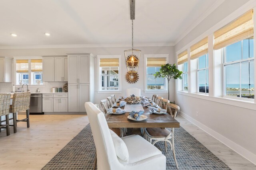
[[[140,49],[141,59],[138,68],[139,80],[135,84],[129,84],[125,80],[125,74],[127,69],[125,67],[124,50],[130,49],[131,47],[110,47],[110,48],[49,48],[49,49],[0,49],[0,56],[5,57],[19,57],[19,56],[47,56],[47,55],[66,55],[67,53],[92,53],[94,55],[122,55],[121,62],[121,74],[122,79],[122,93],[116,93],[116,96],[125,96],[126,89],[131,87],[137,87],[144,90],[144,54],[169,54],[169,63],[175,63],[174,47],[134,47],[134,49]],[[96,60],[95,60],[96,62]],[[97,68],[95,69],[97,75]],[[95,80],[97,85],[97,79]],[[0,84],[1,86],[1,84]],[[95,88],[97,90],[97,88]],[[153,93],[141,92],[144,96],[152,96]],[[95,92],[95,102],[100,103],[100,100],[108,97],[110,93],[97,93]],[[160,94],[163,98],[168,98],[168,93]],[[170,82],[170,100],[174,100],[174,81]]]

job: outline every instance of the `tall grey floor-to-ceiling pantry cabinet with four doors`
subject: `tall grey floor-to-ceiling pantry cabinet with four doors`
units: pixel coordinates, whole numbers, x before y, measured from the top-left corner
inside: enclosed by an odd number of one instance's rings
[[[84,103],[94,103],[92,54],[68,54],[68,111],[85,112]]]

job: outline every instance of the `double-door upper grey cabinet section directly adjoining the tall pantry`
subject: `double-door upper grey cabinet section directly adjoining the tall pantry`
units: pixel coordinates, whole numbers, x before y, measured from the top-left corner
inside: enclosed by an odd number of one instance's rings
[[[68,81],[68,57],[54,57],[54,81]]]

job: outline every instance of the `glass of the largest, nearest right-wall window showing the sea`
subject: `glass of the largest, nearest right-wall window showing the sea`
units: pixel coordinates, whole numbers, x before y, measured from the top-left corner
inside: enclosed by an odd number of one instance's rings
[[[224,47],[224,96],[254,98],[253,37]]]

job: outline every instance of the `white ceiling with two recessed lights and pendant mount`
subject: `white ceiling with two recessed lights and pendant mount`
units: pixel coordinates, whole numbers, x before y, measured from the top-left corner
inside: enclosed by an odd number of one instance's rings
[[[220,0],[136,0],[134,43],[174,44],[216,2]],[[131,45],[129,0],[0,0],[0,4],[2,47]]]

